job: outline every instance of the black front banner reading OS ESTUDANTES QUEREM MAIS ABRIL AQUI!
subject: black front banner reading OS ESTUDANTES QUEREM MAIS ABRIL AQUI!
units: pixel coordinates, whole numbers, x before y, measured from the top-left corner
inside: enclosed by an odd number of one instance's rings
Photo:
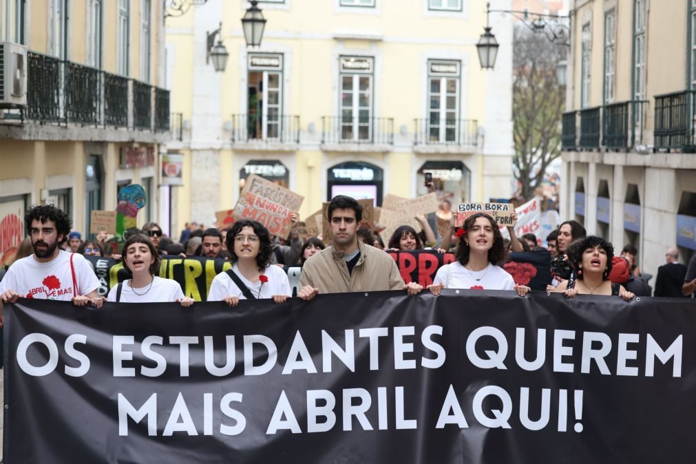
[[[695,310],[470,290],[235,309],[20,299],[4,458],[692,463]]]

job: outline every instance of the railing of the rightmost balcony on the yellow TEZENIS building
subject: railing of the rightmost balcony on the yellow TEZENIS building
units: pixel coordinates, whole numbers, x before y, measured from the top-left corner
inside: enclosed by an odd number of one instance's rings
[[[416,145],[477,145],[475,119],[416,119]]]

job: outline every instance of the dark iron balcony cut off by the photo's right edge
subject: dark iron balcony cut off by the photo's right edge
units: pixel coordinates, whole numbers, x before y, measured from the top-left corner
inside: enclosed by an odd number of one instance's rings
[[[655,95],[655,149],[694,151],[694,90]]]

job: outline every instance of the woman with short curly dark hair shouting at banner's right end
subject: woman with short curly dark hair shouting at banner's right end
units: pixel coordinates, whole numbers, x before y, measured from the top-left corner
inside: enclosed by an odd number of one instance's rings
[[[571,243],[567,248],[568,259],[577,276],[573,282],[564,280],[556,287],[558,293],[568,298],[581,295],[617,295],[626,301],[635,296],[623,285],[609,280],[614,257],[614,247],[601,237],[585,237]]]

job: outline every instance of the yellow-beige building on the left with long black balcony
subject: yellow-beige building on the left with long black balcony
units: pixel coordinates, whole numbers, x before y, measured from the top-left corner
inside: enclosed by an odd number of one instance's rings
[[[0,259],[22,240],[10,224],[29,205],[58,205],[84,237],[91,210],[116,209],[119,189],[141,184],[139,225],[159,219],[163,14],[152,0],[0,1],[0,48],[16,51],[26,79],[3,74],[24,102],[0,95]]]

